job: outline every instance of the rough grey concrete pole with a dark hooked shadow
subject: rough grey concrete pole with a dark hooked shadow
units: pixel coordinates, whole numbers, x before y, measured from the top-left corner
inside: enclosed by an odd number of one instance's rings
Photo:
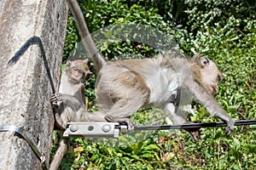
[[[48,163],[67,11],[66,1],[0,1],[0,127],[20,127]],[[26,139],[0,132],[1,170],[41,166]]]

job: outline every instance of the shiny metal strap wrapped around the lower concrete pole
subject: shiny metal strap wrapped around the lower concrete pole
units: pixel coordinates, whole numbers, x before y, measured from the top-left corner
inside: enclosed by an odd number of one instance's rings
[[[42,168],[44,170],[48,170],[48,164],[45,161],[45,156],[44,154],[38,150],[37,146],[35,144],[32,143],[32,140],[28,138],[28,136],[26,135],[26,133],[24,132],[24,130],[21,127],[16,127],[13,125],[6,125],[6,126],[0,126],[0,132],[15,132],[20,134],[20,136],[26,140],[26,143],[31,147],[31,149],[34,151],[34,153],[36,154],[36,156],[38,157],[38,159],[41,161],[42,164]]]

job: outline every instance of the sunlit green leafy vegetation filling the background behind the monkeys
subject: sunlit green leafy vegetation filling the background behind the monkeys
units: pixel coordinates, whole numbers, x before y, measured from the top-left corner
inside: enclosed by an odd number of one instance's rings
[[[90,32],[115,24],[143,24],[170,35],[183,53],[200,52],[224,72],[216,99],[235,120],[256,118],[256,2],[254,0],[80,0]],[[79,33],[70,14],[63,62],[73,53]],[[99,42],[108,59],[157,53],[141,42]],[[127,58],[132,56],[128,56]],[[95,76],[86,83],[88,103],[94,104]],[[95,107],[90,106],[93,111]],[[218,122],[200,105],[193,105],[192,121]],[[196,114],[195,114],[196,113]],[[132,117],[141,125],[165,123],[157,109]],[[71,139],[60,169],[255,169],[256,130],[236,127],[230,137],[224,128],[202,129],[195,142],[184,131],[124,134],[118,140]],[[54,133],[54,154],[59,133]]]

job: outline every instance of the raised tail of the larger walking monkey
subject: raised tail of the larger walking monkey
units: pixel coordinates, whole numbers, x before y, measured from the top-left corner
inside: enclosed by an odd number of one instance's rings
[[[92,62],[96,69],[96,73],[98,73],[98,71],[100,71],[102,67],[107,64],[107,60],[102,56],[98,48],[96,48],[96,44],[90,36],[90,31],[88,31],[88,27],[84,20],[84,15],[79,7],[78,1],[67,0],[67,3],[71,13],[73,14],[74,20],[76,21],[84,48],[87,52],[89,52],[90,56],[92,56]]]

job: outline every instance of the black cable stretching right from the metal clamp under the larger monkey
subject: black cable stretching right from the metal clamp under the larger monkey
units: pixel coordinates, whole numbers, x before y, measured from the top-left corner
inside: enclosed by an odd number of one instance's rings
[[[256,119],[236,121],[235,126],[253,125],[256,124]],[[226,127],[225,122],[200,122],[191,124],[178,124],[178,125],[153,125],[153,126],[138,126],[134,127],[135,131],[141,130],[168,130],[168,129],[188,129],[188,128],[201,128],[201,127]]]

